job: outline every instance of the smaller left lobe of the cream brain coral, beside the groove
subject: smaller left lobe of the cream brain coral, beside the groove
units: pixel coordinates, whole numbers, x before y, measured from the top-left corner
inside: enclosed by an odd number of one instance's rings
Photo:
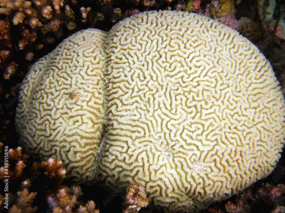
[[[41,159],[60,159],[69,175],[86,181],[94,179],[103,131],[104,37],[97,29],[78,32],[40,59],[17,108],[23,146]]]

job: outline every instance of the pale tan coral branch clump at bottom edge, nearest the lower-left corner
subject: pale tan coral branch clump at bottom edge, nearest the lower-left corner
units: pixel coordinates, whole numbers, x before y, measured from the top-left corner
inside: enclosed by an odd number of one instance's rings
[[[25,188],[23,191],[18,191],[18,197],[16,204],[14,204],[10,209],[9,213],[33,213],[37,210],[37,206],[32,207],[34,198],[37,192],[29,193],[28,189]]]

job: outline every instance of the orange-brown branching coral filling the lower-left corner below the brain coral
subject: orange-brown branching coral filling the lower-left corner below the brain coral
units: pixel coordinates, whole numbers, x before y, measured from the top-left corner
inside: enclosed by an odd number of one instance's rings
[[[4,145],[0,142],[0,153],[2,152],[2,148],[4,148]],[[10,180],[13,179],[14,185],[9,185],[9,195],[5,195],[9,197],[9,213],[36,212],[38,205],[33,204],[36,196],[37,200],[42,199],[41,206],[44,205],[44,208],[47,208],[47,206],[50,205],[50,210],[55,213],[99,213],[99,210],[95,209],[95,203],[93,201],[85,203],[79,200],[82,195],[80,186],[74,185],[69,188],[60,185],[66,173],[65,169],[60,168],[62,164],[61,161],[50,158],[41,163],[33,162],[32,165],[28,164],[27,166],[30,170],[25,169],[23,173],[24,168],[21,166],[26,166],[25,163],[27,162],[28,155],[22,153],[22,147],[7,149],[8,148],[5,147],[4,151],[9,152],[5,154],[9,156],[9,169],[11,168],[11,170],[9,170],[9,183],[12,183]],[[28,176],[27,171],[29,171]],[[50,179],[51,182],[43,182],[43,180],[46,179]],[[15,186],[18,187],[16,190]],[[35,189],[38,191],[35,192]],[[0,198],[2,201],[3,196],[1,194]],[[44,200],[47,202],[43,202]],[[2,203],[3,202],[0,202],[0,212],[3,209]]]

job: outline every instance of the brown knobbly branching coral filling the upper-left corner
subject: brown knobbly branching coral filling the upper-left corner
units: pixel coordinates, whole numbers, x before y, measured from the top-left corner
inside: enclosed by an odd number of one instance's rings
[[[0,40],[3,41],[0,43],[0,68],[4,71],[5,79],[10,79],[16,72],[17,63],[9,60],[14,55],[18,55],[18,50],[23,50],[26,60],[32,61],[36,59],[34,51],[37,50],[36,45],[32,44],[37,38],[42,39],[43,34],[49,32],[56,34],[57,38],[63,36],[61,24],[64,21],[64,15],[61,8],[64,3],[63,0],[0,1],[0,14],[7,15],[6,21],[0,20]],[[18,30],[22,34],[21,38],[15,36],[12,41],[10,22],[19,25]],[[44,30],[40,31],[42,27]],[[17,28],[15,27],[15,29]],[[13,51],[13,47],[16,52]]]

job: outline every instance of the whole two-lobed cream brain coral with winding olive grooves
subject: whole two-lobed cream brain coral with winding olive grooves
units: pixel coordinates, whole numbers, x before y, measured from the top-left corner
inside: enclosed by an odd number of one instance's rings
[[[145,187],[167,212],[198,211],[266,177],[284,145],[284,98],[246,38],[193,13],[149,11],[82,30],[23,81],[16,126],[67,175]]]

